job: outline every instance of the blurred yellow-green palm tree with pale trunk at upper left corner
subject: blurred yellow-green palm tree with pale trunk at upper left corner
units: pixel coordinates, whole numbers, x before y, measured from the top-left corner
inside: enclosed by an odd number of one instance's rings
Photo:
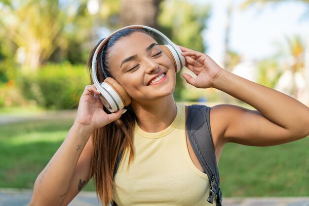
[[[36,70],[56,49],[67,47],[64,31],[73,25],[78,7],[85,9],[86,2],[60,5],[58,0],[2,0],[0,26],[5,38],[21,48],[22,69]],[[79,9],[81,10],[81,9]],[[80,11],[79,11],[80,12]]]

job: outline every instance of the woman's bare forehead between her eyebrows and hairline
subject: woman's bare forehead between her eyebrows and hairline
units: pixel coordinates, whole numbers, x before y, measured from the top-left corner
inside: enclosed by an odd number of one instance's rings
[[[134,32],[128,36],[121,37],[109,51],[109,59],[112,62],[122,61],[123,59],[146,52],[146,48],[156,43],[153,37],[141,32]],[[120,59],[119,59],[120,58]],[[112,61],[113,60],[113,61]]]

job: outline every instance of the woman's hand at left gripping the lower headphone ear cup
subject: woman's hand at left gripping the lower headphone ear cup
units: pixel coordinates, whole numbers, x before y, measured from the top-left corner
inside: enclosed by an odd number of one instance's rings
[[[107,114],[97,95],[100,95],[100,92],[94,85],[85,87],[79,100],[77,117],[74,122],[74,124],[87,127],[91,132],[119,119],[125,110],[120,109],[112,114]]]

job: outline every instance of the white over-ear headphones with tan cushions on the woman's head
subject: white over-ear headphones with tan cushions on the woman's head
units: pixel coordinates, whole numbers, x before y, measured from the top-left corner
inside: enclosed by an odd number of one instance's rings
[[[91,73],[92,73],[92,80],[94,85],[96,86],[97,90],[101,93],[100,99],[103,105],[110,111],[115,112],[119,109],[122,109],[124,106],[127,106],[131,103],[131,98],[124,90],[124,88],[112,77],[105,76],[105,80],[102,84],[99,83],[96,73],[96,63],[97,63],[97,56],[101,49],[107,44],[108,40],[117,32],[126,29],[143,29],[147,33],[154,35],[157,37],[164,45],[160,45],[162,51],[171,59],[176,73],[180,71],[183,67],[185,67],[185,58],[181,55],[180,48],[174,44],[169,38],[167,38],[161,32],[147,26],[143,25],[132,25],[123,27],[111,35],[106,37],[97,47],[94,52],[92,58],[92,65],[91,65]],[[103,74],[105,74],[104,68]]]

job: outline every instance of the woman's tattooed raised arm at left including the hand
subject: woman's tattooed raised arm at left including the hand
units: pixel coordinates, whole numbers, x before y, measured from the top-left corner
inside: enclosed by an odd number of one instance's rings
[[[106,114],[95,97],[98,94],[94,85],[85,87],[68,136],[35,182],[31,206],[67,205],[90,179],[93,145],[89,137],[123,112]]]

